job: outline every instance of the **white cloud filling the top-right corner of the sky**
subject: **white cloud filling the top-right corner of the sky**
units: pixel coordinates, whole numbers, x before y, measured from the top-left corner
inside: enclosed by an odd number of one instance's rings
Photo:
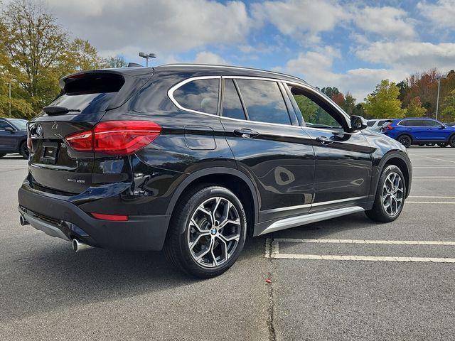
[[[422,1],[417,4],[422,16],[429,18],[433,25],[444,28],[455,28],[455,1],[439,0],[436,4]]]

